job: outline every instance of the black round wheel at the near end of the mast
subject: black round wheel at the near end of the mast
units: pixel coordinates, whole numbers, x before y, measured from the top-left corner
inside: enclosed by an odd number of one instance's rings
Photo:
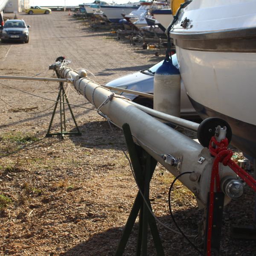
[[[227,128],[227,140],[230,143],[232,139],[232,130],[230,125],[223,119],[217,117],[209,117],[204,119],[203,122],[198,127],[198,140],[200,144],[204,147],[209,147],[210,140],[212,136],[215,135],[215,128],[220,125],[222,128],[226,126]]]

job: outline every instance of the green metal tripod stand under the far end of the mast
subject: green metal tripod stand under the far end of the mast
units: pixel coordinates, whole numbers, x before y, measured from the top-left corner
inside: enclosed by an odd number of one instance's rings
[[[51,118],[51,121],[50,121],[50,124],[49,124],[49,127],[48,127],[48,131],[47,131],[47,134],[45,135],[46,137],[52,137],[54,135],[57,135],[57,136],[61,136],[62,138],[64,137],[64,135],[77,135],[77,136],[81,136],[81,132],[79,131],[79,128],[78,128],[78,125],[76,123],[76,119],[75,119],[75,116],[73,114],[73,111],[70,107],[70,104],[69,104],[69,101],[67,99],[67,94],[65,92],[65,89],[63,87],[63,82],[60,82],[60,86],[59,86],[59,91],[58,91],[58,97],[57,97],[57,101],[55,103],[55,107],[54,107],[54,110],[53,110],[53,113],[52,113],[52,118]],[[65,102],[64,100],[66,101],[67,103],[67,106],[69,108],[69,111],[71,113],[71,116],[73,118],[73,121],[76,125],[76,130],[77,132],[67,132],[66,131],[66,116],[65,116]],[[54,116],[55,116],[55,112],[56,112],[56,109],[57,109],[57,106],[58,106],[58,103],[60,104],[60,115],[61,115],[61,131],[58,132],[58,133],[50,133],[50,130],[51,130],[51,127],[52,127],[52,122],[53,122],[53,119],[54,119]],[[62,115],[63,115],[63,118],[62,118]],[[63,127],[64,126],[64,127]]]

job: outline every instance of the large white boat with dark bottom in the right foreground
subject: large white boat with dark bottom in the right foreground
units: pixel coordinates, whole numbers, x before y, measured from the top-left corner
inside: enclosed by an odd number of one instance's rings
[[[256,157],[256,1],[193,0],[171,37],[194,108],[225,119],[232,144]]]

